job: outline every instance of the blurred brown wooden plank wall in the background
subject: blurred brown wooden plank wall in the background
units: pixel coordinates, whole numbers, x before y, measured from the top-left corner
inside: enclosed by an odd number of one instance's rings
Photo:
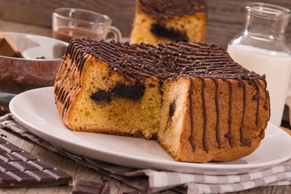
[[[244,4],[249,1],[252,0],[206,0],[209,12],[205,41],[215,42],[226,48],[228,41],[243,30]],[[291,8],[291,0],[260,2]],[[112,17],[113,25],[120,29],[124,37],[128,37],[132,29],[135,0],[0,0],[0,18],[49,29],[51,14],[59,7],[81,8],[108,15]],[[287,38],[291,40],[291,25]]]

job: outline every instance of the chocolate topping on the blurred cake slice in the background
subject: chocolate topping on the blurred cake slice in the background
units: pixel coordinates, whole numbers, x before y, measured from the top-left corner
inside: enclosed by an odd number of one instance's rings
[[[137,8],[155,19],[171,19],[175,16],[207,12],[204,0],[139,0]]]

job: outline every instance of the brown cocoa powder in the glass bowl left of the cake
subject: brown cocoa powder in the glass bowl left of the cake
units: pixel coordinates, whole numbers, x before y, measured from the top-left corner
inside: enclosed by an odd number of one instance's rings
[[[21,60],[0,57],[0,92],[21,92],[53,86],[62,61]]]

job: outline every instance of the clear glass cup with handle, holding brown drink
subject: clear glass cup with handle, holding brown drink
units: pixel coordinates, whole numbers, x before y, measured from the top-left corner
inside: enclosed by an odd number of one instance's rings
[[[109,32],[121,40],[120,31],[111,23],[110,17],[83,9],[58,8],[52,14],[53,37],[65,42],[82,36],[105,39]]]

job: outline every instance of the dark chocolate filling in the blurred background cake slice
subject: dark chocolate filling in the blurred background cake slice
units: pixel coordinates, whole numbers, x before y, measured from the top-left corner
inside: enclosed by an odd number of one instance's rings
[[[169,38],[175,42],[189,42],[186,34],[174,28],[168,29],[163,24],[152,24],[150,31],[156,36]]]

